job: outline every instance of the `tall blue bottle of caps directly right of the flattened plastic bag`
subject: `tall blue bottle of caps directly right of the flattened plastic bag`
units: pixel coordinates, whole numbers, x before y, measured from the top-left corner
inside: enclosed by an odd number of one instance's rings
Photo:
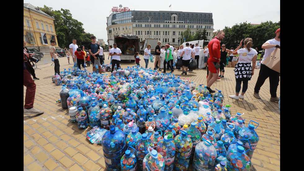
[[[126,138],[123,131],[115,129],[115,126],[111,125],[110,130],[102,136],[101,142],[105,156],[105,170],[120,170],[120,160],[126,149]]]

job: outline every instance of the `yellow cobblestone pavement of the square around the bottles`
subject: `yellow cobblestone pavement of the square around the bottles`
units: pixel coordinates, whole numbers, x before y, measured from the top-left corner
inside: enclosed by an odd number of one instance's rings
[[[107,64],[109,63],[107,52],[105,52],[105,56]],[[143,59],[142,55],[141,59]],[[72,65],[68,65],[66,57],[59,58],[59,61],[61,71],[64,68],[72,67]],[[121,62],[123,68],[134,64]],[[144,60],[141,60],[140,64],[145,66]],[[154,68],[154,64],[149,63],[149,67]],[[68,109],[62,109],[61,104],[56,103],[56,100],[60,98],[60,86],[56,86],[51,81],[54,65],[39,65],[38,68],[41,70],[36,69],[35,73],[40,80],[35,80],[37,87],[34,107],[43,110],[44,114],[23,116],[23,170],[103,171],[105,160],[102,146],[92,144],[86,138],[91,127],[84,130],[78,129],[77,124],[69,121]],[[87,68],[92,71],[92,65]],[[235,92],[234,71],[233,68],[227,67],[225,71],[225,77],[218,79],[212,85],[212,89],[222,91],[225,97],[223,104],[231,105],[233,114],[245,113],[243,117],[246,119],[246,127],[250,120],[259,123],[256,132],[260,139],[253,154],[251,170],[280,170],[279,105],[269,101],[269,79],[261,88],[261,99],[253,97],[253,88],[259,74],[259,70],[256,69],[253,78],[249,81],[244,100],[234,100],[229,98],[229,95],[233,95]],[[190,78],[191,81],[197,83],[197,86],[206,84],[207,81],[207,71],[203,69],[188,72],[188,75],[181,75],[181,70],[175,70],[173,73],[181,78]],[[26,88],[23,87],[23,100],[25,91]],[[279,97],[280,84],[277,94]]]

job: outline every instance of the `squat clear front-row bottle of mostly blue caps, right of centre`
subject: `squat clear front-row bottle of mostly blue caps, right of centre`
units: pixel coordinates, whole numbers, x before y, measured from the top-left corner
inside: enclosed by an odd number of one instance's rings
[[[195,147],[193,159],[194,171],[206,170],[211,171],[217,158],[217,151],[208,140],[203,140]]]

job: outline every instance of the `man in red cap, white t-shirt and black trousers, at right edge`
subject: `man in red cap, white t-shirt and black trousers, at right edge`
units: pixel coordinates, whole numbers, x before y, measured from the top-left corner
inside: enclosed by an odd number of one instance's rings
[[[254,87],[254,93],[253,96],[255,98],[260,99],[259,91],[264,84],[265,80],[269,77],[269,83],[270,83],[270,101],[279,102],[279,98],[277,97],[277,89],[279,86],[280,81],[280,73],[268,68],[263,62],[267,57],[270,56],[270,54],[275,50],[275,48],[281,48],[281,28],[277,29],[275,31],[275,38],[267,40],[263,45],[262,48],[265,49],[265,54],[261,62],[261,68],[259,77],[257,78],[257,83]]]

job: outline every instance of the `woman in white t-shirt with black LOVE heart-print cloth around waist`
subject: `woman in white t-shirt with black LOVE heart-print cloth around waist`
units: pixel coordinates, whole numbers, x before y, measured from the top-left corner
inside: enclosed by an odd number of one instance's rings
[[[243,40],[239,43],[239,47],[235,49],[232,53],[233,55],[239,54],[239,61],[235,65],[235,95],[230,95],[230,98],[239,100],[244,99],[244,94],[248,88],[248,81],[254,74],[255,63],[257,59],[257,51],[251,48],[252,46],[252,38],[246,38],[244,40],[244,48],[239,49],[242,46]],[[252,65],[251,65],[252,60]],[[239,95],[241,90],[241,83],[243,82],[242,92]]]

